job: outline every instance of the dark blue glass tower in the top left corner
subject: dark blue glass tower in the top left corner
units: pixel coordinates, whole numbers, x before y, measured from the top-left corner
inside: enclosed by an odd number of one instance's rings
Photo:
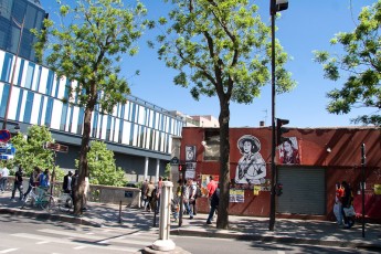
[[[22,29],[19,55],[35,61],[33,44],[36,39],[30,30],[41,30],[44,18],[47,14],[39,0],[0,0],[0,49],[18,54]]]

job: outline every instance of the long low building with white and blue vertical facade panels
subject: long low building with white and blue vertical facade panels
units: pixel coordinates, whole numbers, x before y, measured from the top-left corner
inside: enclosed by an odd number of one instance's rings
[[[0,51],[0,117],[4,118],[10,96],[11,73],[15,67],[8,121],[21,124],[27,131],[30,125],[47,126],[57,142],[70,146],[68,155],[59,155],[62,168],[74,168],[77,158],[84,109],[64,103],[67,86],[76,82],[59,78],[51,70],[25,59]],[[116,154],[116,162],[127,172],[158,176],[170,160],[172,137],[181,136],[182,117],[128,96],[126,104],[118,104],[112,115],[97,109],[93,114],[91,137],[106,141]],[[150,162],[152,160],[152,162]],[[135,179],[133,179],[135,180]]]

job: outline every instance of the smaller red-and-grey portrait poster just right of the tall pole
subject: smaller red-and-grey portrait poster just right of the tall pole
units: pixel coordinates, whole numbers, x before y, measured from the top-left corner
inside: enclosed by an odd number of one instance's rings
[[[296,137],[287,137],[278,146],[281,165],[299,165],[300,155]]]

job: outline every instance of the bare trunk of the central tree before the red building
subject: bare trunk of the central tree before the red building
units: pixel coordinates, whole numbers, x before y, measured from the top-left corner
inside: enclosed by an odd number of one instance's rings
[[[229,227],[229,199],[230,199],[230,140],[229,121],[230,108],[229,100],[220,103],[220,203],[216,220],[218,229]]]

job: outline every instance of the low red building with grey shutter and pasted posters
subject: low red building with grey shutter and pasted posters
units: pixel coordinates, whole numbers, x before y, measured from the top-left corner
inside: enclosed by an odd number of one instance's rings
[[[343,180],[352,187],[354,208],[361,214],[363,170],[366,216],[381,221],[380,134],[369,127],[290,128],[285,135],[288,145],[276,149],[277,182],[283,184],[283,194],[276,198],[277,216],[334,220],[335,184]],[[230,144],[230,214],[268,216],[272,129],[231,128]],[[251,155],[244,155],[244,146]],[[194,157],[186,159],[186,150],[193,150]],[[180,160],[187,161],[187,176],[205,187],[208,176],[220,174],[219,128],[183,128]],[[207,198],[198,199],[198,204],[200,212],[208,212]]]

